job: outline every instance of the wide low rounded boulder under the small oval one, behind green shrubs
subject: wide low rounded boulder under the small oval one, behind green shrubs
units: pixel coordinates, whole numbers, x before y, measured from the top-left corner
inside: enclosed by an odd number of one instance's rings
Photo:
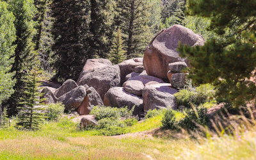
[[[131,109],[135,106],[133,115],[143,116],[143,99],[137,95],[126,92],[123,87],[111,88],[105,95],[104,105]]]

